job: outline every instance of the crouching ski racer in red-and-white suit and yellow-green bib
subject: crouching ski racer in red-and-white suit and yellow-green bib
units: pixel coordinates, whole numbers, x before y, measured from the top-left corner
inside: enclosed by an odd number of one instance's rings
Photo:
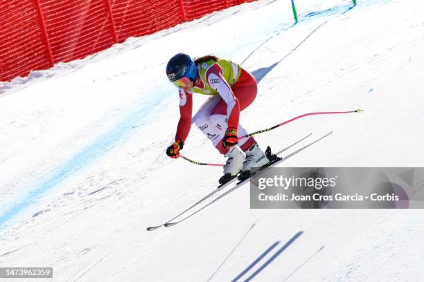
[[[227,158],[220,183],[269,162],[253,137],[238,140],[238,135],[247,135],[238,122],[240,112],[255,100],[258,91],[251,73],[229,59],[206,55],[193,60],[179,53],[169,60],[166,75],[178,87],[180,111],[175,142],[166,150],[170,158],[179,157],[193,121]],[[193,93],[210,98],[192,118]]]

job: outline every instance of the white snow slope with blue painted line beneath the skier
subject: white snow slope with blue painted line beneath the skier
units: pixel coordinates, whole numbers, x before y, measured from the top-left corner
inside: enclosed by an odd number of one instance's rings
[[[221,174],[165,156],[178,96],[164,68],[180,51],[255,74],[249,131],[366,110],[258,135],[282,148],[334,131],[281,166],[424,166],[421,1],[297,10],[293,25],[290,1],[246,3],[1,83],[0,266],[53,267],[51,281],[424,281],[419,209],[254,210],[245,185],[180,225],[145,230]],[[224,162],[194,127],[184,154]]]

